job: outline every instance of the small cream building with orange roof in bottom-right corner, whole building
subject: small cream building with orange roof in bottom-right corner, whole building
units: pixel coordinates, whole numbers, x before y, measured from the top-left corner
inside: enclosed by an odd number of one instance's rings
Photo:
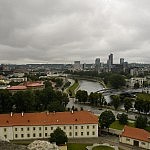
[[[150,149],[150,132],[144,129],[125,126],[119,140],[121,143]]]

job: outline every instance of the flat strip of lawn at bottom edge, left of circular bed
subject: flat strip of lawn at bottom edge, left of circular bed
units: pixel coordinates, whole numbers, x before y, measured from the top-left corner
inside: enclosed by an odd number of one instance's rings
[[[68,143],[67,148],[68,150],[86,150],[86,147],[90,144],[79,144],[79,143]]]

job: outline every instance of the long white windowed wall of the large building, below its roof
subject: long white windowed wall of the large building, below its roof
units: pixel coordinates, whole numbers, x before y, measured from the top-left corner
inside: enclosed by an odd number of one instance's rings
[[[49,138],[57,127],[68,138],[98,137],[98,124],[0,127],[0,136],[8,140],[43,139]]]

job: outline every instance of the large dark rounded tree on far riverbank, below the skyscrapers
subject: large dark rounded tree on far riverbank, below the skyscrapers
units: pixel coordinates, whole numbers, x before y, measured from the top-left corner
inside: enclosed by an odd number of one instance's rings
[[[113,74],[110,76],[110,84],[113,88],[118,89],[125,85],[125,79],[122,75]]]

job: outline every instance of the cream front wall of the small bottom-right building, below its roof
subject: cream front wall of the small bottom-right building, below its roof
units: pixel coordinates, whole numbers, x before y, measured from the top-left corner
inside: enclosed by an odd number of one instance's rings
[[[140,141],[140,140],[132,139],[129,137],[124,137],[124,136],[120,137],[119,140],[121,143],[135,145],[135,146],[145,148],[145,149],[150,149],[150,143],[146,141]]]

